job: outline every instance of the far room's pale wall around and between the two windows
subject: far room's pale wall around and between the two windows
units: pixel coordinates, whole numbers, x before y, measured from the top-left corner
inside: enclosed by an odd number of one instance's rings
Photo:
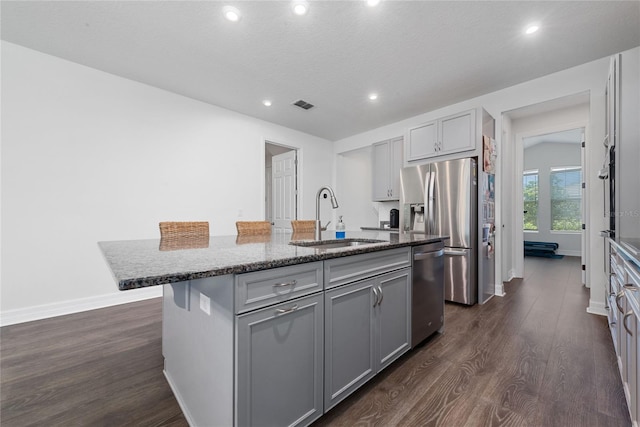
[[[524,170],[538,170],[538,230],[524,240],[554,242],[560,255],[580,256],[580,232],[551,231],[551,168],[580,166],[580,145],[543,142],[524,150]]]

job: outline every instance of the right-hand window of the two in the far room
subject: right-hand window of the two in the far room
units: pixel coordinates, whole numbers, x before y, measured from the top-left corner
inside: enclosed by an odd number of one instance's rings
[[[582,229],[582,169],[551,168],[551,230]]]

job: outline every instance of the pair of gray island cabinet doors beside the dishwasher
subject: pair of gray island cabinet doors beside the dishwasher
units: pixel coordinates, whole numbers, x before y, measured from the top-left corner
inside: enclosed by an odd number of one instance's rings
[[[325,411],[410,348],[411,269],[325,292]]]

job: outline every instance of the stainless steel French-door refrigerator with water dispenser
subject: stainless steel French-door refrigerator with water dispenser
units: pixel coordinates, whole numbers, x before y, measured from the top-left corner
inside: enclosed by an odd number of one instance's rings
[[[446,235],[445,300],[478,302],[478,167],[475,158],[403,168],[400,230]]]

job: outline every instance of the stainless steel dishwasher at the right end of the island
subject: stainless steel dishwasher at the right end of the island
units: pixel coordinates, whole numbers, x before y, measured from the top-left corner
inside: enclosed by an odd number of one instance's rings
[[[411,347],[444,324],[444,243],[413,247]]]

